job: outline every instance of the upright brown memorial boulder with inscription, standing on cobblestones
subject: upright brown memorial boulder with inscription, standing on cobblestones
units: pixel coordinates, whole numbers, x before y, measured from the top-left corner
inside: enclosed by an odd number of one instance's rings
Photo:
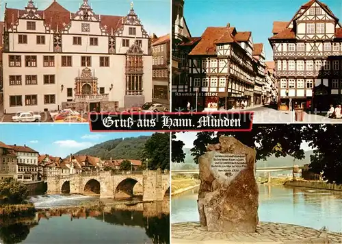
[[[255,232],[259,189],[256,151],[233,137],[220,138],[200,156],[200,225],[213,232]]]

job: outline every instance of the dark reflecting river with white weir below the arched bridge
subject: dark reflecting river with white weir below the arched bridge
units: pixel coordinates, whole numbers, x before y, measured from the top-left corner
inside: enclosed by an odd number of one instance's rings
[[[0,219],[0,243],[170,243],[168,199],[144,204],[105,199],[104,210],[72,210],[98,202],[98,197],[83,195],[39,195],[29,201],[36,206],[36,215]]]

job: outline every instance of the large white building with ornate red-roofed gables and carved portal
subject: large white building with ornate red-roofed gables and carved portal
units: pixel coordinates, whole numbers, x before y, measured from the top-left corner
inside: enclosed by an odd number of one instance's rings
[[[95,14],[83,0],[72,13],[53,1],[38,10],[5,9],[5,113],[114,111],[152,99],[151,40],[133,10]]]

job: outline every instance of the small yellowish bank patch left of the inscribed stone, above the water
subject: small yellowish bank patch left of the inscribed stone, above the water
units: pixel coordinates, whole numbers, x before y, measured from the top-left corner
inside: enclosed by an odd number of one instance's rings
[[[174,175],[171,181],[171,195],[189,191],[200,185],[200,180],[187,175]]]

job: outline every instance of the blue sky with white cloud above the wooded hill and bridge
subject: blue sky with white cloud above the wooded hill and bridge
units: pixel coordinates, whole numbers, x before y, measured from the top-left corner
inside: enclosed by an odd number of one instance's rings
[[[116,138],[150,136],[153,132],[90,132],[89,124],[1,123],[0,141],[27,145],[40,154],[65,158],[81,149]]]

